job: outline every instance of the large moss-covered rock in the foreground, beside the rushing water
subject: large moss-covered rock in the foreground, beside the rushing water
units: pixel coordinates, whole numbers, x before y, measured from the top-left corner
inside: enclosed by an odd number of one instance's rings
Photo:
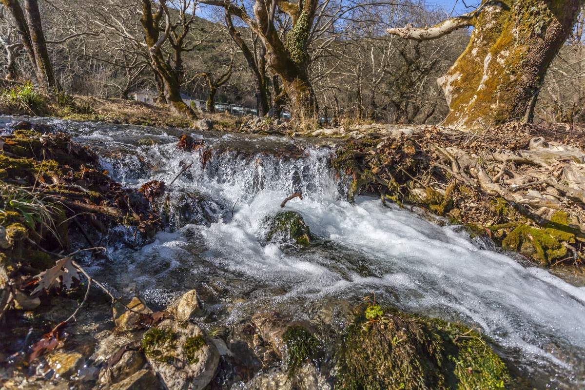
[[[501,389],[512,380],[474,330],[381,308],[348,328],[335,371],[335,389],[352,390]]]

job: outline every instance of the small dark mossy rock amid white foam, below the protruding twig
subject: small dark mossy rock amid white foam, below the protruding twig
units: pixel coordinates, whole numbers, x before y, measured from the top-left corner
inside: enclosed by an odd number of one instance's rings
[[[267,242],[295,241],[306,245],[311,242],[311,231],[300,213],[282,211],[276,215],[267,216],[264,223],[268,225]]]

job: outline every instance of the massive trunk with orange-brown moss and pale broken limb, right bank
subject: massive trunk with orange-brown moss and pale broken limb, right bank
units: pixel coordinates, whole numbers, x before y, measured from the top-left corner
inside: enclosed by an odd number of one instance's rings
[[[572,32],[583,0],[483,0],[479,8],[422,29],[389,33],[417,40],[473,26],[463,54],[439,78],[449,115],[444,125],[485,128],[531,120],[546,70]]]

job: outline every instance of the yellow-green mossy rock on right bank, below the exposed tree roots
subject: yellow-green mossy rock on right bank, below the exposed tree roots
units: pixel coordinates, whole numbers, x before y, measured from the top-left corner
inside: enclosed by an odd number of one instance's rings
[[[566,247],[561,244],[559,239],[549,234],[548,229],[538,229],[538,227],[528,225],[518,225],[508,233],[502,241],[502,247],[507,250],[520,251],[525,256],[534,257],[542,265],[548,265],[553,260],[565,257],[567,254]]]

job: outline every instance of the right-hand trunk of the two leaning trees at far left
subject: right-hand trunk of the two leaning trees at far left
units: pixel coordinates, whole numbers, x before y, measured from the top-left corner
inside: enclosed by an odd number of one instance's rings
[[[39,3],[37,0],[24,0],[27,24],[30,32],[30,42],[36,60],[36,76],[39,84],[47,88],[61,89],[53,73],[53,66],[47,51],[41,24]]]

